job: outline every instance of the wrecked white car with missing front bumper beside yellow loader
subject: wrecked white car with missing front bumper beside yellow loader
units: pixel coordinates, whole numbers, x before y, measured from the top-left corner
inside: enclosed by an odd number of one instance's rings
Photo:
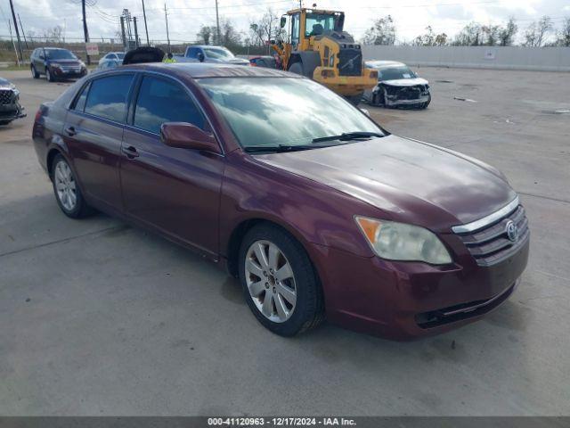
[[[425,109],[431,103],[429,83],[403,62],[368,61],[366,67],[378,70],[378,85],[364,92],[362,98],[383,107]]]

